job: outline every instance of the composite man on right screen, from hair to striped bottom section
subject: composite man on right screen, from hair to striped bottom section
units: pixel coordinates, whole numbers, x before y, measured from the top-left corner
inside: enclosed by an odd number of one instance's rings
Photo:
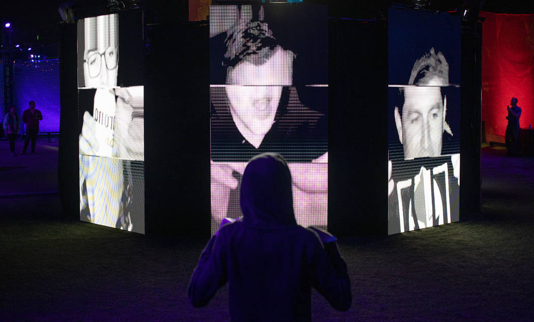
[[[449,65],[431,48],[415,61],[408,85],[400,90],[404,103],[402,109],[395,107],[394,118],[404,160],[411,161],[402,165],[402,173],[392,173],[389,161],[389,234],[458,220],[460,156],[439,158],[443,134],[453,135],[445,121],[446,86]]]

